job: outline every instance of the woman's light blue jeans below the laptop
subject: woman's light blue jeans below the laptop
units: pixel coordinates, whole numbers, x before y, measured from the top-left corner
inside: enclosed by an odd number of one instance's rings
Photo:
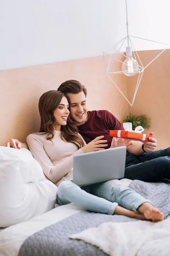
[[[124,185],[115,186],[115,180],[82,187],[65,180],[59,184],[57,191],[59,205],[74,203],[91,212],[111,215],[118,204],[137,212],[138,207],[145,202],[150,201]]]

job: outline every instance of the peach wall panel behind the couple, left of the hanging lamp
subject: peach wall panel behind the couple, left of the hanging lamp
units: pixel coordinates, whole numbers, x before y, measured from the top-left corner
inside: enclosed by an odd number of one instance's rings
[[[107,109],[118,119],[125,116],[127,103],[106,76],[102,56],[0,71],[0,145],[10,138],[24,142],[28,134],[39,131],[40,96],[68,79],[88,89],[89,110]]]

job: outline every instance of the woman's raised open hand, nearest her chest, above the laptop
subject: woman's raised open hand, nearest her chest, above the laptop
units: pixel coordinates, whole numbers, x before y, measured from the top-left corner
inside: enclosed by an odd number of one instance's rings
[[[105,149],[108,144],[102,144],[106,143],[107,140],[102,140],[104,136],[96,137],[94,140],[92,140],[90,143],[82,147],[83,153],[93,152],[93,151],[99,151]]]

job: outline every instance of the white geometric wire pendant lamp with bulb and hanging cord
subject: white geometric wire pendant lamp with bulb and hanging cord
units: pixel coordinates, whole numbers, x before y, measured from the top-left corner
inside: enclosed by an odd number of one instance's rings
[[[126,15],[127,15],[127,2],[126,2]],[[160,42],[157,42],[157,41],[152,41],[152,40],[144,39],[144,38],[139,38],[139,37],[136,37],[136,36],[131,36],[131,35],[129,35],[129,32],[128,32],[128,20],[127,20],[126,24],[127,24],[127,35],[113,46],[113,50],[112,50],[111,54],[103,52],[103,57],[104,57],[106,75],[109,77],[109,79],[111,79],[111,81],[117,87],[117,89],[120,91],[120,93],[122,93],[122,95],[125,97],[127,102],[131,106],[133,106],[133,102],[135,100],[136,93],[138,91],[139,84],[141,82],[144,70],[154,60],[156,60],[156,58],[158,58],[170,45],[169,44],[160,43]],[[143,42],[145,42],[145,43],[146,42],[147,43],[148,42],[152,42],[152,43],[159,44],[159,45],[161,45],[161,49],[162,48],[164,48],[164,49],[162,49],[161,52],[159,52],[159,54],[156,55],[155,58],[153,58],[151,61],[149,61],[149,63],[147,63],[147,64],[143,63],[142,64],[141,58],[139,57],[139,54],[136,51],[136,49],[134,47],[134,44],[133,44],[133,41],[132,41],[132,40],[135,40],[135,39],[138,39],[139,41],[143,40]],[[121,49],[125,48],[125,44],[127,44],[126,55],[124,54],[125,51],[121,52]],[[121,58],[118,57],[118,54],[119,54],[119,56],[121,56]],[[105,61],[106,56],[109,58],[108,65],[106,65],[106,61]],[[122,58],[126,58],[125,61],[123,61]],[[117,63],[119,63],[119,70],[116,70],[116,68],[115,68],[115,65]],[[111,77],[111,74],[122,74],[122,76],[124,76],[124,75],[126,75],[126,76],[138,76],[132,102],[130,102],[127,99],[125,94],[119,88],[119,86],[116,83],[116,81],[113,81],[114,78]]]

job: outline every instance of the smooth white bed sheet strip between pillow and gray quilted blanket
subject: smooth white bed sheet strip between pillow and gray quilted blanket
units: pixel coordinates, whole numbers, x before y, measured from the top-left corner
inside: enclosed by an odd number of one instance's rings
[[[132,180],[122,179],[121,183],[128,186]],[[59,206],[26,222],[0,230],[0,256],[17,256],[23,242],[28,236],[57,223],[85,209],[74,204]]]

